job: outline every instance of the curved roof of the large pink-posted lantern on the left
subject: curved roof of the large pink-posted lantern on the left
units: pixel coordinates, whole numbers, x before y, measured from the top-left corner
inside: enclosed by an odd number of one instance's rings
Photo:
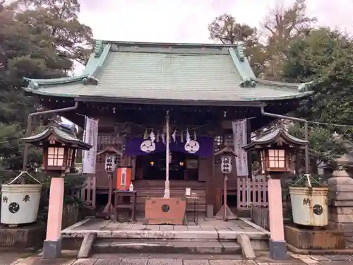
[[[56,126],[49,126],[47,129],[42,131],[40,134],[32,135],[29,137],[25,137],[21,139],[25,143],[31,143],[34,146],[41,146],[42,141],[45,141],[46,139],[49,138],[49,136],[54,136],[55,141],[58,141],[59,143],[64,143],[73,147],[76,147],[81,150],[88,151],[92,146],[89,143],[85,143],[83,141],[80,141],[75,134],[72,134],[68,132],[66,128],[63,128],[61,126],[56,127]]]

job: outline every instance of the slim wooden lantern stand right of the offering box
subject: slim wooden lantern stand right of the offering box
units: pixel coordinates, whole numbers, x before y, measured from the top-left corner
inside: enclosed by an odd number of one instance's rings
[[[223,205],[222,208],[220,208],[220,211],[216,214],[216,218],[223,218],[225,221],[234,220],[237,219],[237,216],[230,211],[227,205],[227,182],[228,175],[232,172],[232,157],[237,157],[237,154],[228,143],[225,143],[225,147],[216,152],[215,155],[222,155],[221,170],[223,173]]]

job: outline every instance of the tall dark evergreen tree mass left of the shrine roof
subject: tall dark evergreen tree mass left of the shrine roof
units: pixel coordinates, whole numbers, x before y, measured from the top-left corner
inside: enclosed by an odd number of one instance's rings
[[[3,170],[20,170],[23,161],[20,138],[25,135],[28,114],[40,107],[36,97],[23,93],[21,86],[27,85],[23,77],[58,78],[72,69],[73,60],[85,62],[83,51],[92,33],[78,23],[78,11],[79,5],[74,0],[23,0],[3,6],[0,13],[0,62],[4,66],[0,69]],[[30,149],[29,161],[41,163],[35,148]]]

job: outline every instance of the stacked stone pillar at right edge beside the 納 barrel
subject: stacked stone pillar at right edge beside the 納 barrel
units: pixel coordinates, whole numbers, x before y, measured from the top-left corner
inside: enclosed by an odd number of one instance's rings
[[[328,221],[330,227],[353,236],[353,179],[346,170],[335,170],[328,179]]]

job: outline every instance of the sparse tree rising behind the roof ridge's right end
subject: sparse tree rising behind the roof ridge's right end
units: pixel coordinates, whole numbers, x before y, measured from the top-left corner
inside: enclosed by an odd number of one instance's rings
[[[260,73],[264,66],[266,54],[263,45],[258,42],[256,28],[240,24],[227,13],[215,18],[209,25],[210,38],[223,44],[244,43],[246,55],[256,73]]]

